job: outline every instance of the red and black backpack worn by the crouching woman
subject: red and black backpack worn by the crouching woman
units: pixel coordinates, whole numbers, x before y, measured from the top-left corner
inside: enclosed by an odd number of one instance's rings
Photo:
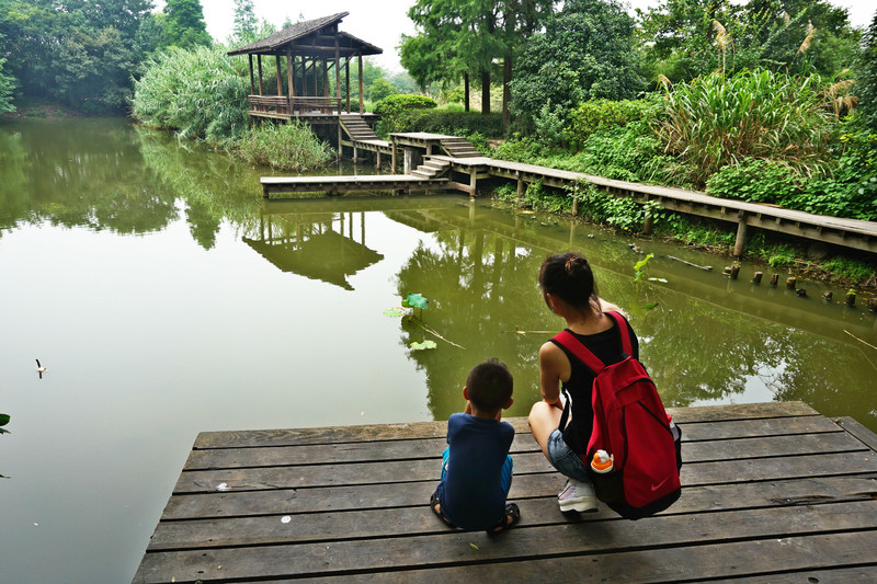
[[[596,375],[591,397],[594,426],[588,454],[582,455],[596,496],[622,517],[639,519],[665,509],[682,493],[682,431],[664,411],[649,374],[631,356],[627,321],[617,312],[606,314],[618,324],[625,353],[618,363],[604,365],[569,331],[554,340]],[[569,399],[561,426],[568,408]]]

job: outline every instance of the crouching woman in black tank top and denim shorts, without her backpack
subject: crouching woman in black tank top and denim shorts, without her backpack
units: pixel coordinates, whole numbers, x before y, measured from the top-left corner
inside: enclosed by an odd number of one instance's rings
[[[622,337],[615,319],[604,310],[619,311],[596,293],[594,275],[588,260],[569,252],[545,260],[539,271],[539,286],[548,308],[567,322],[569,330],[603,363],[624,358]],[[625,320],[625,322],[627,322]],[[639,358],[639,343],[630,325],[631,350]],[[560,511],[596,511],[594,488],[588,478],[581,455],[586,454],[594,411],[591,388],[594,374],[554,340],[539,348],[539,383],[543,400],[533,404],[529,428],[543,454],[567,484],[557,495]],[[563,412],[561,386],[571,400],[571,419],[559,428]]]

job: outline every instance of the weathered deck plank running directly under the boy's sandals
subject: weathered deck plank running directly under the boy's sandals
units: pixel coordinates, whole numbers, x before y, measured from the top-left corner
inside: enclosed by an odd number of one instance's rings
[[[522,527],[622,520],[605,506],[601,506],[596,513],[566,516],[560,513],[553,496],[551,483],[559,485],[559,481],[544,482],[546,486],[542,492],[551,495],[517,500],[522,508]],[[781,481],[767,485],[697,486],[685,489],[684,496],[664,515],[872,501],[875,495],[877,481],[848,477]],[[288,517],[287,523],[283,522],[284,517]],[[429,512],[426,499],[423,499],[419,505],[403,507],[161,522],[149,542],[149,550],[401,537],[444,531],[446,527]]]

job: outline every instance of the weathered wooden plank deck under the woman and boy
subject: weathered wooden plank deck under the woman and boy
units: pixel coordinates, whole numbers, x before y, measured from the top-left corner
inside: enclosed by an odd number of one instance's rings
[[[877,580],[877,436],[799,402],[671,413],[683,495],[639,522],[561,514],[512,419],[522,518],[492,537],[429,509],[443,422],[203,433],[134,582]]]

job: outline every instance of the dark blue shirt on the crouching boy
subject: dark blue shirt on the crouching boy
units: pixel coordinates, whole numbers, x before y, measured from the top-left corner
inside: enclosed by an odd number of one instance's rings
[[[501,473],[513,438],[508,422],[465,413],[448,419],[447,473],[437,491],[442,511],[456,526],[487,529],[505,513]]]

